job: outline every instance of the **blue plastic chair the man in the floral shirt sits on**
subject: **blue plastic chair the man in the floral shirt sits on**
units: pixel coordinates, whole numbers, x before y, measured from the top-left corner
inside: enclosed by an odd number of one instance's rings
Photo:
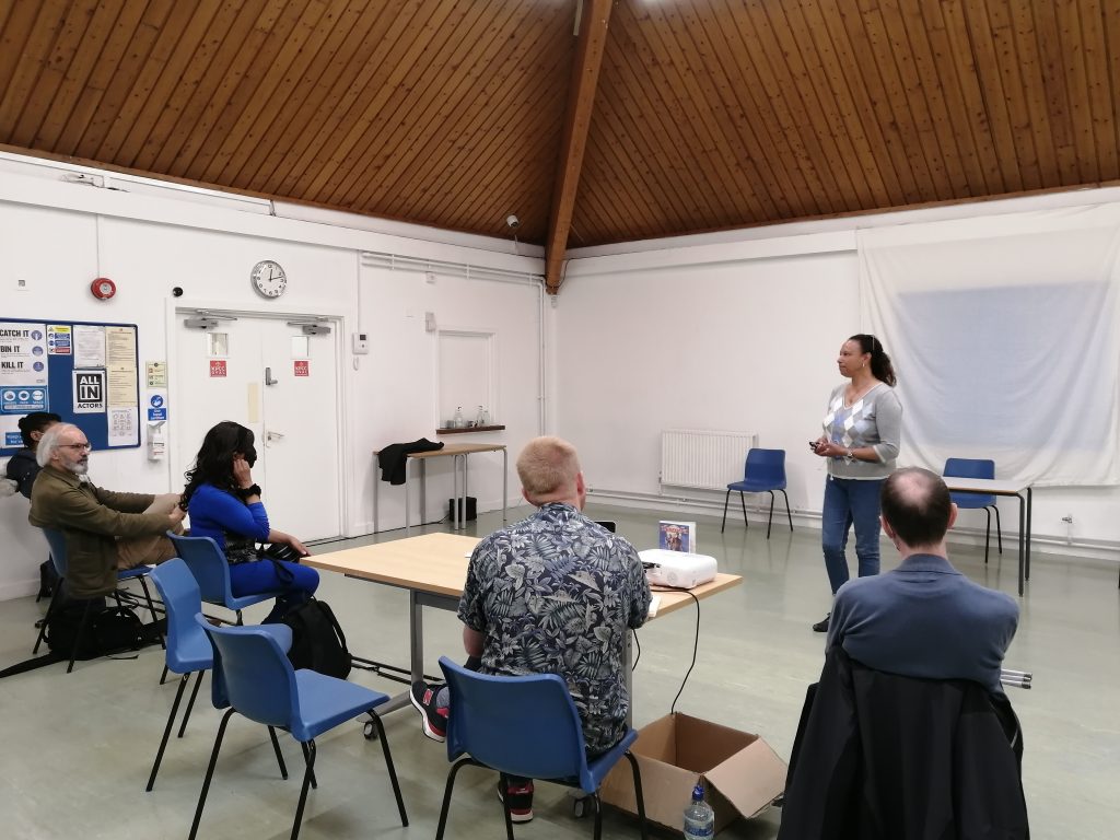
[[[446,656],[439,657],[450,690],[447,718],[447,775],[444,808],[436,840],[442,840],[451,791],[459,769],[468,764],[496,769],[505,790],[508,776],[523,776],[579,787],[595,800],[595,838],[603,834],[599,786],[623,756],[634,773],[642,838],[646,838],[642,774],[629,752],[637,732],[629,729],[614,747],[587,757],[584,727],[568,687],[557,674],[492,676],[468,671]],[[466,755],[469,754],[469,755]],[[459,756],[466,755],[465,758]],[[458,760],[456,760],[458,759]],[[505,833],[513,840],[508,801],[503,801]]]

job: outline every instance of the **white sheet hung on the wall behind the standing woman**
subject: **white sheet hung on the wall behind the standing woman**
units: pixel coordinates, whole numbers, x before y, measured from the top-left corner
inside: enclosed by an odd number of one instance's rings
[[[900,464],[1120,484],[1120,205],[861,231],[864,328],[892,356]]]

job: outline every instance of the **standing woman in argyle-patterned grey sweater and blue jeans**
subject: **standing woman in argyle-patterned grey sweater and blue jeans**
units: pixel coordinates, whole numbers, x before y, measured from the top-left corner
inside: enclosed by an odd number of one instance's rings
[[[895,371],[883,342],[853,335],[840,347],[840,375],[850,380],[829,398],[824,433],[810,448],[829,459],[821,511],[821,547],[832,595],[848,580],[848,531],[856,526],[859,577],[879,573],[879,489],[895,468],[903,407],[895,394]],[[829,628],[829,618],[813,625]]]

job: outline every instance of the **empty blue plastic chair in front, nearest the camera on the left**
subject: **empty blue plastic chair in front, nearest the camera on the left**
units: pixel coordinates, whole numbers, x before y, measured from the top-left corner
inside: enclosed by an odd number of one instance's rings
[[[215,627],[208,624],[202,613],[195,622],[211,638],[214,651],[214,706],[230,710],[222,717],[222,724],[214,740],[214,752],[206,768],[206,781],[198,796],[198,808],[190,825],[190,840],[198,833],[198,823],[206,804],[214,766],[222,748],[222,738],[233,712],[264,726],[277,727],[291,732],[304,749],[307,771],[304,786],[296,808],[296,821],[291,827],[291,839],[299,837],[299,827],[307,803],[307,790],[315,783],[315,738],[339,724],[368,712],[376,727],[381,748],[385,755],[385,766],[396,797],[396,809],[401,824],[408,825],[404,801],[396,783],[396,771],[389,752],[389,740],[381,718],[374,709],[389,700],[386,694],[338,680],[316,671],[291,666],[284,651],[291,646],[291,628],[287,625],[264,627]],[[279,753],[278,753],[279,755]]]

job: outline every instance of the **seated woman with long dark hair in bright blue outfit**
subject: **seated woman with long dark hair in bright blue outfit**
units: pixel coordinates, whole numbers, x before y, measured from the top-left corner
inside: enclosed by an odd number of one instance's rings
[[[318,588],[319,573],[299,563],[258,559],[258,542],[290,545],[301,557],[311,552],[269,525],[261,488],[253,484],[255,463],[253,432],[228,420],[218,423],[206,432],[195,466],[186,474],[180,504],[190,515],[190,535],[212,536],[225,552],[235,596],[283,592],[264,619],[270,622],[304,604]]]

